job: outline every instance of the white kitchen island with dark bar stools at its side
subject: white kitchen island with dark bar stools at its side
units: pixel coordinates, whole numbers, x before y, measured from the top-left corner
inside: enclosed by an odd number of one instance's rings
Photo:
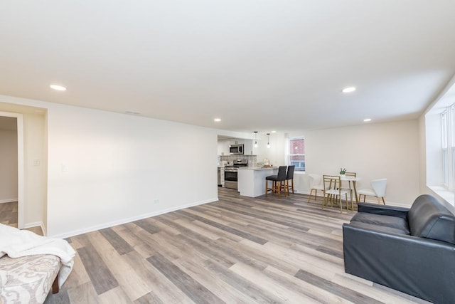
[[[237,171],[238,191],[242,196],[264,195],[265,178],[277,174],[278,167],[240,167]]]

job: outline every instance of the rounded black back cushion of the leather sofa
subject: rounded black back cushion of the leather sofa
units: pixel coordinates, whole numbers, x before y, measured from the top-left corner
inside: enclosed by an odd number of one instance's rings
[[[424,194],[411,206],[407,221],[412,236],[455,244],[455,209]]]

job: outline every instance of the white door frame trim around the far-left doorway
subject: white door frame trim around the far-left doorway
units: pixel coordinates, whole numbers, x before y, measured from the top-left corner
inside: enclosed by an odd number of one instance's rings
[[[23,229],[24,210],[23,210],[23,114],[14,112],[1,112],[0,116],[16,117],[17,122],[17,226]]]

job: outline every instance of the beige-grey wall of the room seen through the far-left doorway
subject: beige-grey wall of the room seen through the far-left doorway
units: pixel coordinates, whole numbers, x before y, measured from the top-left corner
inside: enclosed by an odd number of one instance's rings
[[[0,130],[0,203],[17,201],[17,131]]]

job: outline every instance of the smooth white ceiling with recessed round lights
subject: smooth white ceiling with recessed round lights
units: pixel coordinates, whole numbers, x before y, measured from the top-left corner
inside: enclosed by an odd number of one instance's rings
[[[454,0],[3,1],[0,94],[245,132],[412,119],[455,74],[454,13]]]

